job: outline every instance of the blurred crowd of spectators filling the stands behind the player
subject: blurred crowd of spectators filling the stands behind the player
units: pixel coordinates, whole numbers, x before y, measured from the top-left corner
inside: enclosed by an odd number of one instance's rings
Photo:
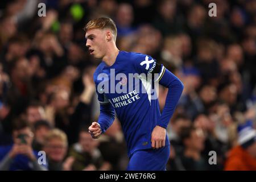
[[[216,17],[208,15],[212,2]],[[151,55],[184,83],[167,130],[167,170],[256,170],[253,0],[1,1],[0,169],[36,169],[28,163],[40,150],[48,170],[126,169],[117,119],[100,139],[88,133],[99,115],[100,62],[89,56],[83,28],[100,16],[117,24],[119,49]],[[160,109],[166,94],[160,87]],[[14,147],[20,134],[32,139],[23,153]]]

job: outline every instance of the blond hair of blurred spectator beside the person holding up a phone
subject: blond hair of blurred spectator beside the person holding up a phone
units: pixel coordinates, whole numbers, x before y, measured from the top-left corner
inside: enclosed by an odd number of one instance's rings
[[[59,139],[64,143],[65,147],[68,146],[67,135],[59,129],[52,129],[49,131],[49,133],[46,135],[46,138],[44,138],[44,144],[47,145],[47,143],[52,139]]]

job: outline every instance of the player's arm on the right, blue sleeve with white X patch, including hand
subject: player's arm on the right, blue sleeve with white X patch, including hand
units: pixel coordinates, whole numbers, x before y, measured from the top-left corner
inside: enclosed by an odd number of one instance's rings
[[[133,60],[136,71],[141,73],[151,73],[152,80],[159,82],[160,85],[168,88],[166,103],[162,115],[157,121],[156,126],[151,134],[152,148],[159,148],[165,146],[166,142],[166,128],[174,114],[175,107],[181,93],[183,92],[184,85],[174,74],[166,69],[162,64],[156,63],[156,60],[151,56],[137,54],[137,59]]]

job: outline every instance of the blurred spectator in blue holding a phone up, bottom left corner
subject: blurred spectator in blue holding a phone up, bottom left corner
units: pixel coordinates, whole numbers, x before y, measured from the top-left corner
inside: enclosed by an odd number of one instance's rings
[[[37,152],[32,150],[33,137],[34,134],[25,121],[16,121],[14,143],[0,147],[0,170],[46,170],[46,166],[38,163]]]

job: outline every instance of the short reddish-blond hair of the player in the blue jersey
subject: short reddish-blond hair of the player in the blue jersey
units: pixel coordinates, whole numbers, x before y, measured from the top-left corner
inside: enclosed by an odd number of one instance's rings
[[[117,38],[117,27],[115,26],[115,22],[108,17],[101,17],[101,18],[96,18],[90,20],[86,26],[84,27],[84,31],[88,31],[93,28],[99,28],[99,29],[104,29],[104,28],[109,28],[112,30],[112,33],[114,35],[114,38]]]

